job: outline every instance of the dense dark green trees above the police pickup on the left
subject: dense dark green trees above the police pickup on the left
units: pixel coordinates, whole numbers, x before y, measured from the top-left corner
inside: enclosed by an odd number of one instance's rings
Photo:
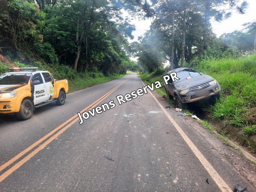
[[[124,74],[128,69],[137,70],[126,52],[126,38],[132,38],[135,28],[120,16],[122,8],[134,10],[136,3],[2,0],[0,49],[6,53],[11,43],[26,53],[23,60],[30,53],[50,65],[70,66],[78,72]]]

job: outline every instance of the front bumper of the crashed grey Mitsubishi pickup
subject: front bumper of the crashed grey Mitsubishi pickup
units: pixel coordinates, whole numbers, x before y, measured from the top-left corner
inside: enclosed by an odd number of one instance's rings
[[[201,90],[190,91],[187,94],[178,94],[180,101],[182,103],[191,103],[210,96],[216,95],[220,92],[220,85],[217,83],[215,85],[210,85]]]

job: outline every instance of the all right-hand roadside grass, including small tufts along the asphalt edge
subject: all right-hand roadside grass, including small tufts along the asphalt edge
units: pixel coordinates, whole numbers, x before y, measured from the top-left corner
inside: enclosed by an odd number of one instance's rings
[[[255,141],[252,142],[249,137],[256,134],[256,55],[236,59],[205,60],[194,69],[212,76],[221,87],[220,100],[214,106],[204,104],[202,108],[211,112],[212,118],[228,120],[229,124],[240,127],[240,130],[242,130],[242,135],[239,137],[240,144],[255,152]],[[142,74],[140,77],[148,84],[157,80],[162,83],[164,74],[156,75],[153,72]],[[164,88],[156,91],[166,96]],[[210,132],[214,131],[213,127],[208,125],[208,122],[201,121],[200,123]],[[217,136],[223,139],[226,144],[232,146],[227,137],[231,133],[223,132],[222,134],[226,136],[219,134]],[[235,146],[232,147],[235,148]]]

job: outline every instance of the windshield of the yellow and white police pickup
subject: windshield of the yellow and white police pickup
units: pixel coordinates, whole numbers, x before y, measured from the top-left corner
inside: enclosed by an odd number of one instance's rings
[[[1,85],[27,84],[31,73],[8,73],[0,76]]]

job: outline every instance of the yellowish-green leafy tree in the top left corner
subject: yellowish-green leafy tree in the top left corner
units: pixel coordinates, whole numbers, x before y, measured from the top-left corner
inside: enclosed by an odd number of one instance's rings
[[[16,49],[42,42],[44,12],[36,4],[25,0],[0,1],[0,37],[10,40]]]

